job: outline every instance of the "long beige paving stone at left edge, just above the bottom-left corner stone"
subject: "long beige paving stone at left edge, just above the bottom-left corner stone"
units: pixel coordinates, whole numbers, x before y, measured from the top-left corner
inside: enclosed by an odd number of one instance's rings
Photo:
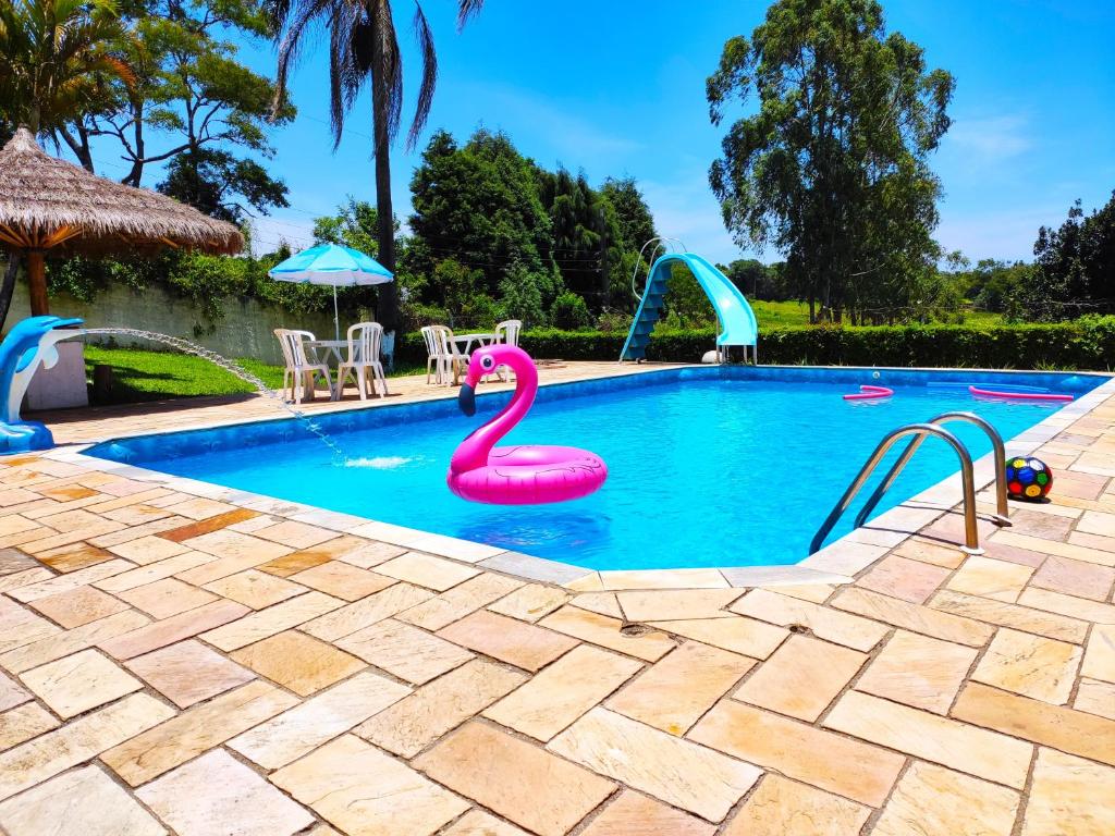
[[[133,693],[0,755],[0,800],[22,793],[157,726],[174,711]]]

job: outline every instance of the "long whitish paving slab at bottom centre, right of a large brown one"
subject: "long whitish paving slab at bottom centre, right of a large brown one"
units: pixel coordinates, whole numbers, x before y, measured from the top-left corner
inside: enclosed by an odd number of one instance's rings
[[[749,764],[599,707],[546,748],[709,822],[724,819],[760,775]]]

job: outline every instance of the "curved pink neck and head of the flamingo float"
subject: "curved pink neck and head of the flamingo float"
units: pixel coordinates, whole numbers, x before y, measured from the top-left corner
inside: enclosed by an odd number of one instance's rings
[[[501,366],[507,366],[515,372],[515,392],[511,402],[460,443],[449,460],[450,473],[459,474],[487,466],[492,448],[523,419],[534,404],[534,396],[539,391],[539,372],[530,354],[515,346],[486,346],[476,349],[468,361],[465,382],[457,396],[462,411],[475,415],[476,385],[484,375],[495,373]]]

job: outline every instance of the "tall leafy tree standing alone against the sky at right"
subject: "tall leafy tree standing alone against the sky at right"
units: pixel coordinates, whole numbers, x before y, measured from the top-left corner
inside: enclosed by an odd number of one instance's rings
[[[949,127],[953,79],[886,32],[875,0],[778,0],[725,43],[707,82],[715,125],[734,103],[709,181],[740,245],[773,245],[785,278],[835,319],[908,303],[939,247],[928,158]]]

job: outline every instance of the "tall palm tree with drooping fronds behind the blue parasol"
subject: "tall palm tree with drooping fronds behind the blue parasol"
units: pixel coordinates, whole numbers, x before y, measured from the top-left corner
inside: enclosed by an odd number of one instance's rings
[[[476,14],[484,0],[457,0],[457,28]],[[275,107],[287,95],[287,79],[298,60],[307,33],[329,35],[329,116],[333,149],[340,145],[345,118],[365,82],[371,81],[371,126],[376,157],[376,257],[395,272],[395,215],[391,208],[390,147],[399,132],[403,113],[403,59],[390,0],[264,0],[277,31],[279,68]],[[407,146],[414,147],[429,117],[437,84],[434,33],[421,6],[415,2],[415,35],[421,52],[421,85]],[[391,331],[398,321],[395,282],[380,285],[379,320]]]

